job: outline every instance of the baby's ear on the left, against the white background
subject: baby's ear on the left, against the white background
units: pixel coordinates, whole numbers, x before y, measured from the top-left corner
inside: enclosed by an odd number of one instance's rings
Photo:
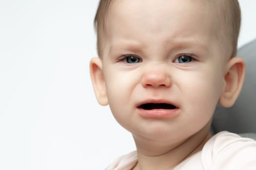
[[[90,74],[98,103],[100,105],[108,105],[105,80],[102,70],[102,60],[100,58],[91,59]]]

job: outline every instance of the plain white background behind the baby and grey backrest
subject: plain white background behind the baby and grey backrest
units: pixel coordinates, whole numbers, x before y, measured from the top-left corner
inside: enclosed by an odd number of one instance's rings
[[[89,75],[98,0],[0,0],[0,170],[103,170],[135,150]],[[239,47],[256,38],[240,0]]]

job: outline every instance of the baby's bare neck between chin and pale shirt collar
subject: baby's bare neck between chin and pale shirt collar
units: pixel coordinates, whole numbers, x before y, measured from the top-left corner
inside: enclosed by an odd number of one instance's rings
[[[133,170],[172,170],[183,160],[202,150],[211,138],[211,133],[202,129],[197,134],[171,145],[142,142],[135,138],[138,164]]]

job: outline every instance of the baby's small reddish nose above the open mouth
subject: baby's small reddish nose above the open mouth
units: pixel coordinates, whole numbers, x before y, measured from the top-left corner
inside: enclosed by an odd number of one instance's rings
[[[154,88],[170,87],[172,84],[170,75],[163,68],[149,68],[148,70],[146,70],[141,79],[141,83],[144,87]]]

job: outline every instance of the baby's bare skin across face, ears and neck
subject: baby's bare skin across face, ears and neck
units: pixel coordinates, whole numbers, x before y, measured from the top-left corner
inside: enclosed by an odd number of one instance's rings
[[[244,62],[228,56],[232,49],[213,34],[215,16],[203,4],[116,0],[110,7],[103,56],[91,60],[91,77],[98,102],[109,104],[134,136],[134,170],[172,170],[200,151],[217,102],[232,106],[240,92]],[[176,109],[143,112],[138,106],[145,102]]]

